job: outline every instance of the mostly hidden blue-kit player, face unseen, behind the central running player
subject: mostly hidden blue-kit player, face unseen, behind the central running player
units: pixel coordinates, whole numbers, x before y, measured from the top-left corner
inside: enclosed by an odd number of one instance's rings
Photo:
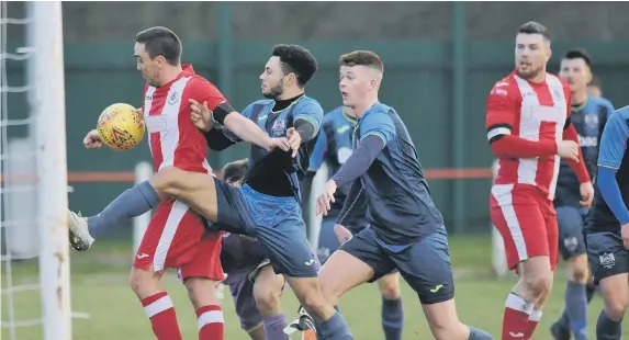
[[[304,197],[310,197],[312,180],[317,170],[325,162],[327,165],[328,178],[332,178],[351,155],[351,135],[356,126],[356,117],[351,109],[339,106],[324,116],[322,133],[315,145],[306,180],[304,182]],[[355,218],[347,214],[341,215],[342,203],[349,192],[350,183],[340,186],[335,193],[335,202],[330,211],[323,219],[319,228],[317,245],[317,256],[322,263],[338,249],[339,240],[335,234],[335,225],[340,223],[349,229],[351,234],[357,234],[364,229],[367,223],[367,204],[364,200],[352,208]],[[404,311],[402,309],[402,298],[400,291],[400,274],[391,273],[378,280],[378,287],[382,294],[382,330],[386,340],[402,339],[402,327],[404,325]]]

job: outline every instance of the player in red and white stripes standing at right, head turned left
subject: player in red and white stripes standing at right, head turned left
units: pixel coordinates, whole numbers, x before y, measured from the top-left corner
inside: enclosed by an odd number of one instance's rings
[[[524,24],[516,36],[516,69],[487,98],[486,128],[499,169],[490,197],[507,263],[519,274],[503,319],[503,340],[530,339],[552,287],[558,226],[552,200],[560,157],[566,158],[589,200],[594,190],[570,123],[570,88],[548,73],[548,30]]]

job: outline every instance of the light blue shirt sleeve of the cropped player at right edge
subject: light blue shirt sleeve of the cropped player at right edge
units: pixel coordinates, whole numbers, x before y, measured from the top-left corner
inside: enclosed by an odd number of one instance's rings
[[[609,116],[598,149],[598,167],[618,169],[622,162],[629,138],[627,120],[619,111]]]

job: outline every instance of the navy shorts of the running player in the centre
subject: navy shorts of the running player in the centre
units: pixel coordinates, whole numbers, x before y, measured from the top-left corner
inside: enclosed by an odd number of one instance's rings
[[[373,268],[373,282],[395,269],[417,293],[424,305],[454,297],[454,281],[448,234],[441,226],[428,237],[407,246],[387,246],[367,227],[340,246],[340,249]]]

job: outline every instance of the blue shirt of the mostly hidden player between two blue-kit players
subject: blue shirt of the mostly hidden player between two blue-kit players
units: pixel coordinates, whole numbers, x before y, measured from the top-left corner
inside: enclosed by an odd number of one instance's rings
[[[351,156],[351,135],[355,127],[356,120],[344,113],[342,106],[327,113],[323,118],[322,133],[311,156],[308,171],[316,172],[325,162],[328,179],[337,173]],[[340,213],[350,186],[351,183],[346,183],[336,190],[329,215],[336,216]]]

